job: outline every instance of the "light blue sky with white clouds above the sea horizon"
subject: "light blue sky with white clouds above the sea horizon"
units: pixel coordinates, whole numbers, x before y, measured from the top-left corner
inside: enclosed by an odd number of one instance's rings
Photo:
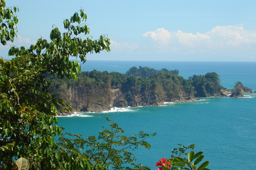
[[[18,37],[0,45],[30,46],[49,39],[53,26],[81,8],[90,38],[106,35],[110,52],[88,54],[87,60],[256,61],[255,0],[6,0],[18,6]],[[88,36],[88,35],[87,35]]]

